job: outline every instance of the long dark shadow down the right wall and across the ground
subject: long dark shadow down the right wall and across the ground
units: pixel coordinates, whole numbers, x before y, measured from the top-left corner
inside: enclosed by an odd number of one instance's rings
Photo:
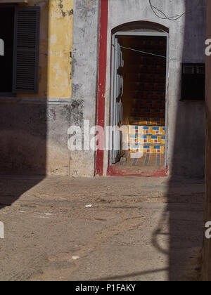
[[[191,13],[185,15],[182,62],[205,63],[205,1],[186,0],[186,11]],[[170,281],[199,277],[197,263],[204,232],[205,106],[203,101],[179,99],[167,209],[153,236],[155,247],[169,256]],[[169,224],[168,230],[165,224]],[[163,235],[169,236],[167,250],[159,247]]]

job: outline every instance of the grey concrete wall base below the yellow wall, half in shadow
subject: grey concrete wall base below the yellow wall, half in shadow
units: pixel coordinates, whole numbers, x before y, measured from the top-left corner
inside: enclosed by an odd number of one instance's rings
[[[0,98],[0,173],[69,175],[74,100]]]

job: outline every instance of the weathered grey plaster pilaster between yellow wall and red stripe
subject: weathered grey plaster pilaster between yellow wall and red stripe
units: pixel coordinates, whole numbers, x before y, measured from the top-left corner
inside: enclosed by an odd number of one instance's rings
[[[98,79],[98,0],[75,0],[72,45],[72,99],[83,105],[71,124],[96,125]],[[70,176],[94,176],[93,151],[71,152]]]

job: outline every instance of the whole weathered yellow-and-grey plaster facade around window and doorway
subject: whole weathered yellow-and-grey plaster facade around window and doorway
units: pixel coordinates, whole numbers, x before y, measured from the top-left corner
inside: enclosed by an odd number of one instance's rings
[[[0,145],[0,151],[4,150],[1,154],[3,162],[7,162],[13,153],[13,166],[18,166],[15,163],[23,162],[24,155],[28,155],[28,149],[31,150],[30,155],[40,154],[39,146],[43,138],[41,134],[45,128],[44,166],[47,173],[94,176],[94,152],[70,152],[67,133],[70,125],[82,126],[84,119],[88,119],[91,126],[96,124],[99,4],[98,0],[75,0],[73,18],[72,0],[29,0],[27,5],[41,6],[39,93],[33,95],[33,99],[29,95],[27,98],[20,96],[19,100],[12,99],[13,112],[8,111],[6,105],[8,100],[1,99],[0,117],[4,117],[4,112],[8,114],[5,117],[8,122],[2,123],[0,131],[2,132],[0,136],[4,134],[1,136]],[[106,125],[109,125],[110,112],[111,29],[136,20],[158,22],[169,27],[170,58],[175,60],[170,61],[168,164],[170,169],[186,176],[203,176],[204,167],[203,102],[179,102],[181,62],[203,63],[204,61],[204,4],[204,0],[199,4],[198,0],[155,0],[155,5],[169,15],[192,9],[191,13],[172,22],[156,17],[151,11],[148,0],[109,0]],[[37,107],[33,109],[30,104],[34,105],[34,101]],[[25,104],[29,105],[27,129],[23,119],[24,114],[20,112],[22,110],[20,105]],[[25,108],[25,112],[26,110]],[[46,119],[43,121],[44,114]],[[19,122],[15,126],[11,123],[18,120],[22,124]],[[34,127],[30,124],[37,124],[37,130],[40,126],[42,130],[40,136],[37,133],[32,139]],[[22,133],[24,138],[31,138],[28,145],[24,147],[23,140],[20,139],[14,141],[15,133]],[[21,138],[21,136],[16,137]],[[22,150],[22,153],[15,155],[17,150]],[[41,161],[41,156],[37,158]],[[28,159],[30,161],[30,156]],[[106,173],[108,153],[105,153],[104,160]],[[34,165],[29,165],[32,173],[36,168],[36,164]],[[25,169],[22,171],[24,173]]]

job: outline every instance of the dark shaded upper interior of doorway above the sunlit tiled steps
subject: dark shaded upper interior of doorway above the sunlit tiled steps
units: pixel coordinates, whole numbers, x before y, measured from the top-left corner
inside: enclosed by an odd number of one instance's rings
[[[123,124],[148,125],[144,120],[148,117],[155,121],[162,118],[165,123],[166,58],[157,55],[166,56],[166,38],[123,36],[120,42],[124,58]]]

